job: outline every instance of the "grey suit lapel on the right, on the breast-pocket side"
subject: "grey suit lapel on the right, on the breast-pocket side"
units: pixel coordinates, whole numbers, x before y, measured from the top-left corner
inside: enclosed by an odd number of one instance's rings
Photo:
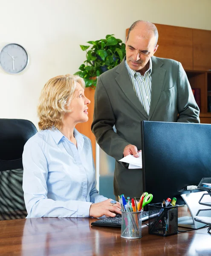
[[[150,120],[155,111],[156,105],[158,104],[162,92],[166,73],[166,70],[161,67],[162,65],[163,62],[159,58],[156,58],[154,56],[152,57],[152,90],[148,121]]]

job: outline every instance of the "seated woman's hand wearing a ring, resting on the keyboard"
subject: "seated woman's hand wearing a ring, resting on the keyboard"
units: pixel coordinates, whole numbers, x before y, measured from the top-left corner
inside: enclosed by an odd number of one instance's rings
[[[119,202],[116,202],[116,204],[110,203],[112,199],[107,199],[106,201],[91,204],[90,206],[90,217],[98,218],[103,215],[107,215],[109,217],[115,217],[116,213],[121,214],[121,205]]]

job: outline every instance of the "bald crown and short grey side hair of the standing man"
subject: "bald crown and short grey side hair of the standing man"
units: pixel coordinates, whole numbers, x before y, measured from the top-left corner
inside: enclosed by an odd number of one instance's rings
[[[155,46],[157,45],[157,41],[158,41],[158,30],[156,28],[156,26],[149,22],[149,21],[145,21],[145,20],[137,20],[135,21],[131,26],[130,29],[128,31],[128,35],[127,35],[127,40],[129,38],[130,32],[132,30],[135,30],[134,32],[136,32],[136,34],[139,37],[142,38],[150,38],[154,35],[155,37]]]

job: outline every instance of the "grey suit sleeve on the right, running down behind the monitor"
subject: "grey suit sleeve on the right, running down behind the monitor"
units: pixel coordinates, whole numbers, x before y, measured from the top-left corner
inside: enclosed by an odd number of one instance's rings
[[[178,113],[177,122],[199,123],[199,107],[194,99],[188,77],[182,64],[178,64]]]

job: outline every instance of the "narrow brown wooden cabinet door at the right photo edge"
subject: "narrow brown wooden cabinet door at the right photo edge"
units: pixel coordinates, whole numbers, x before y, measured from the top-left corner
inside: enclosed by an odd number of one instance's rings
[[[194,70],[211,70],[211,31],[194,29]]]

